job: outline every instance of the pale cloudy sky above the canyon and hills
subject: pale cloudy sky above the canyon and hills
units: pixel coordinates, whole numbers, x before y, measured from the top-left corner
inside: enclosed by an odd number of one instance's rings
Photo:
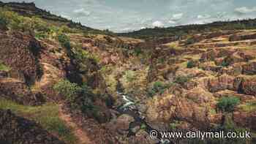
[[[0,0],[37,7],[94,29],[115,32],[256,18],[255,0]]]

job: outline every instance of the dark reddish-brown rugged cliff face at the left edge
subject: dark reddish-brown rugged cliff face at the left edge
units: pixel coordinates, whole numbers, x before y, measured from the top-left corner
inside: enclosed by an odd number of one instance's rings
[[[38,62],[40,45],[33,37],[13,32],[0,35],[0,61],[12,67],[10,77],[33,84],[42,75]]]

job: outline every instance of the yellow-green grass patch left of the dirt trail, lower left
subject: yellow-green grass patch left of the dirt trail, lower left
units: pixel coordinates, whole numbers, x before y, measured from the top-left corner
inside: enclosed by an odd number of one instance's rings
[[[46,104],[42,106],[32,107],[26,105],[18,105],[15,102],[0,99],[0,109],[11,110],[16,115],[36,121],[45,130],[52,134],[57,134],[61,140],[66,143],[77,143],[77,137],[72,133],[72,129],[64,124],[59,118],[59,106]]]

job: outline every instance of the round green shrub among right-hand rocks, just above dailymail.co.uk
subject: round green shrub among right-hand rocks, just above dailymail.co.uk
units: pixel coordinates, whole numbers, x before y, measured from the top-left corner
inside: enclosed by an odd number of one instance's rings
[[[219,99],[217,103],[217,107],[222,112],[233,112],[236,105],[240,103],[240,99],[238,97],[222,97]]]

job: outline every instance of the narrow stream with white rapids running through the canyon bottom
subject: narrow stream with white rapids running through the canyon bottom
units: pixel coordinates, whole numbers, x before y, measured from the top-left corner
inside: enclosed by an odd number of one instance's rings
[[[118,94],[118,97],[120,97],[124,101],[123,105],[120,105],[119,107],[117,107],[117,111],[119,113],[132,116],[135,119],[136,125],[145,126],[144,130],[148,133],[148,135],[150,134],[151,131],[155,131],[159,133],[159,130],[153,129],[152,126],[146,123],[145,117],[138,110],[136,103],[129,96],[127,96],[126,94],[120,91],[117,91],[117,94]],[[132,135],[132,132],[129,133],[128,136],[129,135]],[[168,139],[163,140],[162,137],[160,137],[160,134],[158,134],[158,137],[155,140],[158,141],[156,144],[174,144],[171,140],[168,140]]]

